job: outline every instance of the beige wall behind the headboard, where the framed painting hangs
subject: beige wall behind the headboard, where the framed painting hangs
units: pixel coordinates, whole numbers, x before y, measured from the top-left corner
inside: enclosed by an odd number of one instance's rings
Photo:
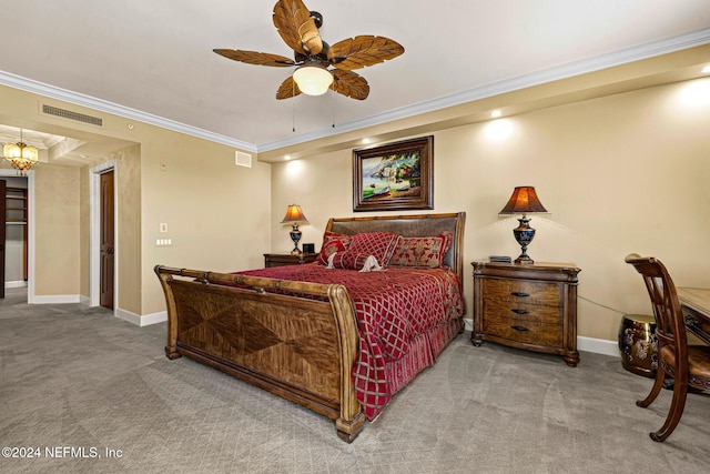
[[[710,79],[700,79],[436,131],[433,212],[466,212],[466,262],[515,258],[517,220],[498,212],[514,186],[534,185],[550,214],[532,215],[528,253],[581,269],[579,335],[613,341],[623,313],[650,313],[628,253],[662,259],[678,285],[710,286],[708,123]],[[291,248],[277,222],[292,202],[316,249],[327,218],[354,215],[351,149],[272,174],[273,250]],[[466,264],[467,317],[470,273]]]

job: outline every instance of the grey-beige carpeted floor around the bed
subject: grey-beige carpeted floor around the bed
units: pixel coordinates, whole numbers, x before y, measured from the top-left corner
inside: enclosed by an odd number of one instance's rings
[[[689,395],[679,427],[653,443],[671,393],[637,407],[651,381],[616,357],[582,353],[570,369],[559,356],[474,347],[467,333],[346,444],[325,417],[185,357],[169,361],[165,324],[24,301],[12,289],[0,300],[0,445],[26,455],[3,450],[2,473],[710,468],[710,396]]]

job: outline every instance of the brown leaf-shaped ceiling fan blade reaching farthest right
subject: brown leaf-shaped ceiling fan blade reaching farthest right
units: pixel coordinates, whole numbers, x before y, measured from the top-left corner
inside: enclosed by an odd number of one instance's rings
[[[378,64],[403,52],[404,47],[395,40],[367,34],[333,44],[328,50],[328,61],[334,68],[352,70]]]

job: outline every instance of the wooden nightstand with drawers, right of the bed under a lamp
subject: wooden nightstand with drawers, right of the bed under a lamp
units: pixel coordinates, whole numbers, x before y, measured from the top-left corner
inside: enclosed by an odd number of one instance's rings
[[[471,342],[491,341],[528,351],[560,354],[567,365],[577,352],[577,273],[570,263],[473,262]]]

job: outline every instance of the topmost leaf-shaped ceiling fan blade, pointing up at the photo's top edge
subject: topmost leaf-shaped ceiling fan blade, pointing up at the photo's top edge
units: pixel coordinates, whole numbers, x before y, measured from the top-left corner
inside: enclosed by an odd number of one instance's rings
[[[303,1],[278,0],[274,6],[274,27],[294,51],[306,56],[323,51],[321,33]]]

